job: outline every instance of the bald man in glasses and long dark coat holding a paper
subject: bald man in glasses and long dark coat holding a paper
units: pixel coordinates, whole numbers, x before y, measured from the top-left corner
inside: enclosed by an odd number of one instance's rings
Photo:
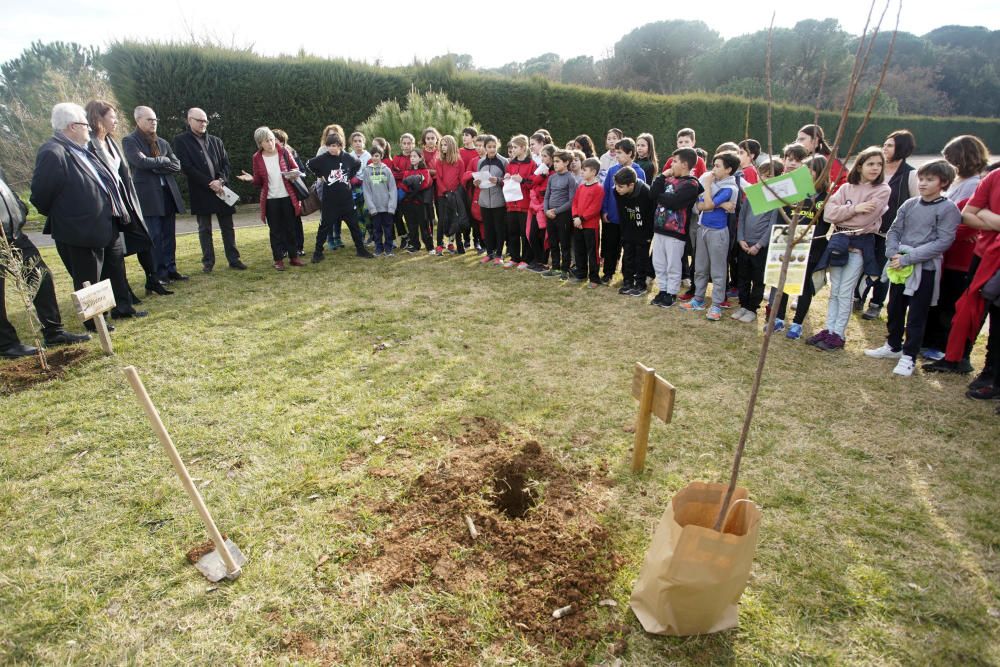
[[[212,243],[212,215],[219,218],[222,246],[229,266],[245,269],[236,249],[236,231],[233,213],[236,209],[219,197],[222,187],[229,181],[229,155],[222,139],[208,133],[208,116],[198,108],[188,110],[188,130],[174,137],[174,151],[181,161],[181,169],[188,178],[191,194],[191,212],[198,218],[198,240],[201,241],[202,271],[210,273],[215,266],[215,247]]]

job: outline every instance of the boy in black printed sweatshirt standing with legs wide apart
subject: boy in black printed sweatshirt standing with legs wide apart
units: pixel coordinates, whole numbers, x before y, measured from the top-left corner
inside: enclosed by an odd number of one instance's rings
[[[351,192],[351,179],[361,170],[361,163],[344,152],[344,138],[336,132],[331,132],[326,138],[327,152],[309,160],[309,171],[323,180],[323,214],[320,217],[319,230],[316,232],[316,250],[312,261],[323,261],[323,242],[330,233],[330,228],[340,226],[341,221],[347,222],[351,230],[351,239],[358,257],[370,259],[375,255],[365,248],[361,227],[358,226],[358,213],[354,209],[354,195]]]

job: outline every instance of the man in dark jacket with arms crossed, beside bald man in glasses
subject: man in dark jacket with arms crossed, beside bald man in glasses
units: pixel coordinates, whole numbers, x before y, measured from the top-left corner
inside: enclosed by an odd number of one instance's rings
[[[187,280],[177,271],[177,214],[184,212],[184,199],[174,174],[181,162],[166,139],[156,135],[156,112],[135,108],[136,130],[122,139],[122,151],[132,167],[132,182],[139,197],[142,217],[153,240],[153,261],[160,281]]]

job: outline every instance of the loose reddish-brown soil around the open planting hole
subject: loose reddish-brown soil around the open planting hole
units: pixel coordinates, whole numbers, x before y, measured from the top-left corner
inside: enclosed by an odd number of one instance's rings
[[[377,508],[391,524],[355,569],[386,590],[498,590],[511,631],[540,647],[613,639],[616,628],[602,623],[597,604],[620,567],[599,520],[611,485],[606,468],[567,466],[538,442],[503,433],[487,419],[465,426],[446,458]],[[465,515],[479,532],[476,540]],[[566,605],[573,612],[554,619],[552,612]],[[474,639],[465,619],[449,614],[436,627],[440,642],[401,645],[394,659],[461,663]]]

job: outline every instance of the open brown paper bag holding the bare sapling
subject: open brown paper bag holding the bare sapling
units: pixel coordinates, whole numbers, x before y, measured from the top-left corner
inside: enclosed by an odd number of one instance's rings
[[[684,636],[737,626],[761,515],[737,487],[723,531],[712,530],[726,488],[693,482],[663,513],[629,601],[646,632]]]

